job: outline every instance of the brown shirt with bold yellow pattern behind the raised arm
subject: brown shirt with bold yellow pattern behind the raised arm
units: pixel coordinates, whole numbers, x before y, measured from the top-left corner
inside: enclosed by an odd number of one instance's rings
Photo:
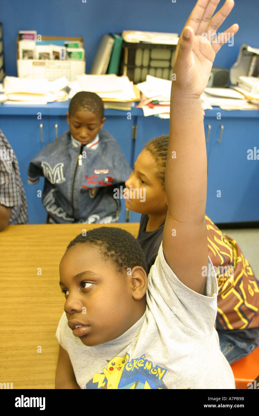
[[[259,330],[259,282],[235,240],[223,234],[205,215],[208,254],[219,287],[217,330]],[[235,331],[236,332],[236,331]]]

